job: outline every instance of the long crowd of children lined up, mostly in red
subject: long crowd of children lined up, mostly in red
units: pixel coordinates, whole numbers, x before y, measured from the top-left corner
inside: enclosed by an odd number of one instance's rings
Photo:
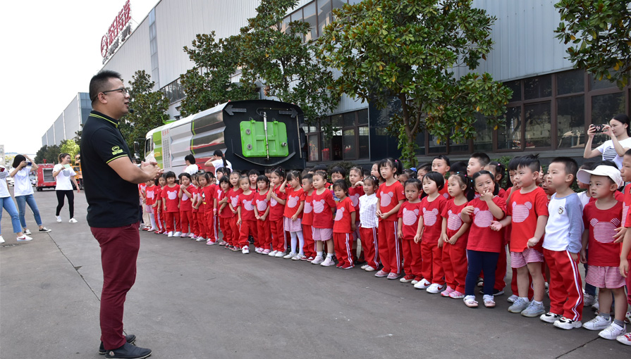
[[[367,176],[360,167],[347,177],[344,168],[324,166],[264,174],[219,168],[216,177],[200,171],[179,181],[166,172],[141,187],[150,222],[144,230],[244,254],[253,243],[255,253],[344,270],[362,264],[375,277],[459,298],[470,308],[479,305],[480,286],[484,306],[496,306],[508,250],[510,313],[561,329],[598,330],[631,345],[631,184],[618,191],[631,182],[631,150],[621,170],[611,160],[579,169],[572,158],[558,157],[544,173],[529,155],[510,160],[508,179],[506,172],[484,153],[468,163],[436,156],[418,170],[388,158]],[[576,194],[576,181],[586,191]],[[599,313],[583,322],[583,308],[592,304]]]

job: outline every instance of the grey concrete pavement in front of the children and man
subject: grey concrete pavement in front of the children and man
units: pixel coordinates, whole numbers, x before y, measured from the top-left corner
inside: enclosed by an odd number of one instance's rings
[[[6,212],[0,245],[0,358],[102,358],[97,241],[85,221],[54,222],[54,191],[35,192],[44,225],[16,243]],[[37,229],[27,214],[31,230]],[[243,255],[141,232],[125,331],[152,358],[628,358],[597,332],[569,332],[360,270]],[[508,279],[507,279],[508,280]],[[481,299],[481,296],[479,296]],[[547,305],[547,303],[546,303]],[[594,316],[585,310],[584,321]]]

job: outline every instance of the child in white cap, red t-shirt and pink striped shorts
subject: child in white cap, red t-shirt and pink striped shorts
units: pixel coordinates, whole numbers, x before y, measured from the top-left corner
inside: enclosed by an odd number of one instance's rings
[[[598,335],[601,338],[614,340],[626,332],[627,298],[625,279],[620,275],[620,242],[616,243],[613,239],[623,216],[623,203],[616,201],[614,194],[624,182],[620,171],[609,165],[599,165],[591,171],[579,170],[577,177],[581,182],[589,182],[589,191],[595,199],[583,208],[585,231],[580,255],[581,262],[589,265],[585,282],[599,288],[600,308],[600,314],[584,323],[583,327],[600,330]],[[589,259],[586,258],[587,248]],[[613,322],[608,310],[611,308],[611,294],[615,300]]]

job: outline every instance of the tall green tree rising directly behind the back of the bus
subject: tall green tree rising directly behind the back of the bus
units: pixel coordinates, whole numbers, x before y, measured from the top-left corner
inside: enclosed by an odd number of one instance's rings
[[[295,103],[305,113],[307,122],[331,113],[339,95],[330,89],[333,73],[319,61],[314,40],[302,41],[310,25],[293,21],[288,31],[280,24],[295,0],[262,0],[257,15],[247,19],[238,35],[240,65],[247,82],[262,82],[267,96]]]

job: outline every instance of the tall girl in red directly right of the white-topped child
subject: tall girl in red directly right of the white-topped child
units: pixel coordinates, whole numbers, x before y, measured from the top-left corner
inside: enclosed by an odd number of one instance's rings
[[[377,191],[377,216],[379,217],[379,257],[384,265],[375,277],[397,279],[401,275],[401,241],[397,237],[397,213],[405,201],[403,185],[396,180],[396,175],[403,172],[400,160],[387,158],[379,161],[379,172],[384,177],[384,184]]]

